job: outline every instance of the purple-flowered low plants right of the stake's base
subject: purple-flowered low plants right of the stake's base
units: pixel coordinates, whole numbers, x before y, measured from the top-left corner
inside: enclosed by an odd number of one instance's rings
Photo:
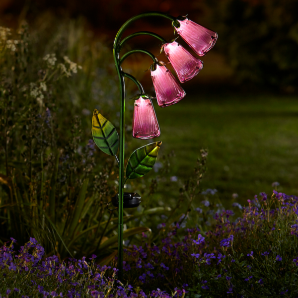
[[[298,197],[275,191],[256,196],[238,218],[210,205],[202,229],[181,229],[181,220],[161,225],[157,241],[144,237],[125,251],[124,277],[145,292],[184,287],[189,298],[296,297],[297,204]]]

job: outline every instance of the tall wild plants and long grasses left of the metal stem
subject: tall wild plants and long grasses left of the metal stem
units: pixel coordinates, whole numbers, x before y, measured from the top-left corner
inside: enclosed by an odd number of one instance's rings
[[[110,256],[118,219],[105,207],[118,168],[91,140],[90,110],[118,122],[112,55],[79,20],[36,27],[0,28],[0,243],[32,236],[60,260]],[[146,212],[125,214],[125,236],[149,229],[138,227]]]

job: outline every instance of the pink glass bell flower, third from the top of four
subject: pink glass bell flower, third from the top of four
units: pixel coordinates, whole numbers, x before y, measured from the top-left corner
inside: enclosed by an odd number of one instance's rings
[[[173,74],[165,66],[156,64],[154,71],[151,68],[151,78],[160,107],[177,103],[186,95]]]

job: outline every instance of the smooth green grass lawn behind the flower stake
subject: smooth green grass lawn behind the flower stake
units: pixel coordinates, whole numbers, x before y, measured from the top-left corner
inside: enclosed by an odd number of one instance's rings
[[[187,95],[167,108],[155,105],[161,154],[174,150],[171,176],[188,177],[199,150],[209,149],[203,189],[216,188],[224,206],[231,195],[264,191],[298,195],[298,103],[285,95]],[[154,174],[152,175],[152,177]],[[178,191],[176,192],[178,196]],[[174,193],[172,194],[174,195]]]

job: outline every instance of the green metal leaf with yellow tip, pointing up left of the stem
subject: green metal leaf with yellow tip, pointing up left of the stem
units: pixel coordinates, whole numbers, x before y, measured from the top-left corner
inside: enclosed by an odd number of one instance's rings
[[[109,155],[116,155],[119,138],[116,128],[105,119],[96,109],[92,118],[92,136],[97,147]]]

